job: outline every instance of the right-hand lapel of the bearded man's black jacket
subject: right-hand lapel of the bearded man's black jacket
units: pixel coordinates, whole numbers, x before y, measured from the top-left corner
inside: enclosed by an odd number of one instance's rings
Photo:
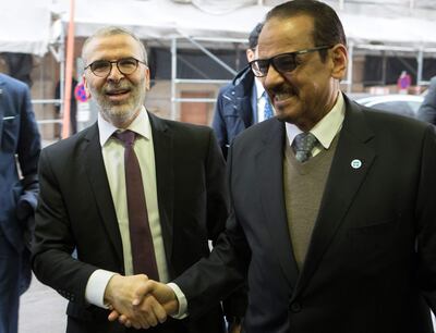
[[[168,262],[172,254],[173,236],[173,199],[174,199],[174,172],[175,162],[173,161],[173,139],[171,131],[166,121],[148,113],[153,144],[155,149],[156,164],[156,187],[157,201],[159,207],[159,219],[162,231],[162,239]]]

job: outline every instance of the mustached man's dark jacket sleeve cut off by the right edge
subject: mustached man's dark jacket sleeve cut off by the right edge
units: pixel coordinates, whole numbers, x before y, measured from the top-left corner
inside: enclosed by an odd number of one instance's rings
[[[416,205],[419,284],[428,306],[436,313],[436,133],[428,126],[421,160]]]

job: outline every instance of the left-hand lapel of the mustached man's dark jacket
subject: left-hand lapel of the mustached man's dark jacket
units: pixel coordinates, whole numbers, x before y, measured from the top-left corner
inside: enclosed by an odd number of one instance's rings
[[[262,221],[269,232],[275,254],[278,256],[282,271],[294,286],[298,279],[298,267],[293,257],[292,245],[288,230],[283,196],[283,146],[284,126],[272,119],[269,132],[265,135],[263,146],[256,157],[256,174],[259,176],[262,208],[265,217]]]

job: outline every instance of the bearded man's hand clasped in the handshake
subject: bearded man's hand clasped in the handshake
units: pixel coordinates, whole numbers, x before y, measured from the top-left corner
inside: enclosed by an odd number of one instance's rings
[[[148,329],[167,320],[166,310],[152,295],[142,297],[142,306],[146,309],[145,311],[133,304],[134,298],[137,298],[138,295],[136,291],[147,281],[148,278],[144,274],[113,275],[110,279],[105,291],[105,303],[110,304],[112,310],[108,317],[110,321],[118,319],[128,328],[133,325],[135,329]]]

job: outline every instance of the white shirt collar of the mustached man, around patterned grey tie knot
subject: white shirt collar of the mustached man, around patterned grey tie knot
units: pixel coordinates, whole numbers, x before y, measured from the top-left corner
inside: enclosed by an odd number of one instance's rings
[[[344,116],[346,103],[342,92],[338,92],[334,108],[310,131],[325,149],[330,147],[335,136],[341,130]],[[286,123],[286,131],[289,144],[292,144],[294,137],[302,133],[299,127],[290,123]]]

